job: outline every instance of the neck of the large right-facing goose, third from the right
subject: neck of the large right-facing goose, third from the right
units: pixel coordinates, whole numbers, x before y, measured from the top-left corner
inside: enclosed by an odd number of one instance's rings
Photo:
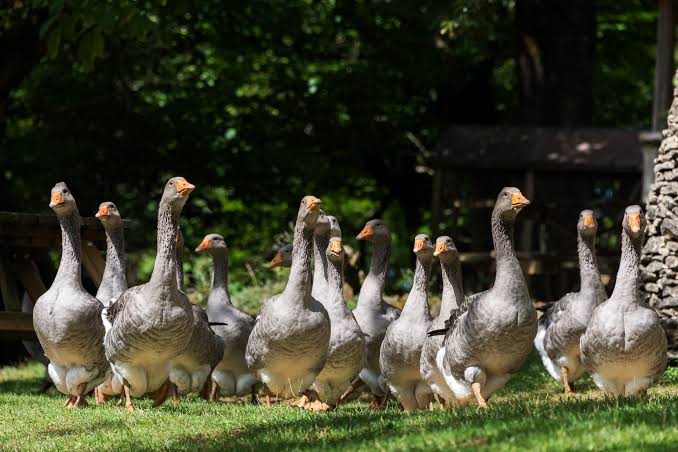
[[[513,251],[513,221],[502,219],[498,212],[492,212],[492,241],[497,257],[494,287],[511,290],[517,285],[526,286],[520,263]]]

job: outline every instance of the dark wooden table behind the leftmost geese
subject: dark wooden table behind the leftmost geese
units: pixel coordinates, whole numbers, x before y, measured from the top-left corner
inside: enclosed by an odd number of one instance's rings
[[[123,221],[126,228],[130,221]],[[99,248],[106,247],[101,222],[94,217],[82,218],[82,265],[96,287],[101,284],[105,260]],[[52,250],[61,249],[61,228],[54,215],[0,211],[0,339],[31,339],[33,316],[21,312],[21,295],[28,293],[35,300],[46,286],[36,265]]]

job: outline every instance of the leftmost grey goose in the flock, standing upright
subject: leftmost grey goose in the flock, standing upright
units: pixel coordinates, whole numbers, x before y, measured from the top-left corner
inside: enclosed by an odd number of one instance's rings
[[[80,214],[64,182],[51,191],[49,206],[61,226],[61,262],[56,277],[33,307],[33,327],[54,385],[68,408],[87,405],[85,394],[110,372],[104,354],[101,303],[82,286]]]

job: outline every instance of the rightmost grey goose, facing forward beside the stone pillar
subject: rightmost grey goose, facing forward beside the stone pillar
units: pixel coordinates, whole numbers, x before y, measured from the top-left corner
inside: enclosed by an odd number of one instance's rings
[[[666,334],[638,291],[645,226],[640,206],[627,207],[614,291],[595,308],[580,341],[582,363],[611,397],[644,395],[667,364]]]

